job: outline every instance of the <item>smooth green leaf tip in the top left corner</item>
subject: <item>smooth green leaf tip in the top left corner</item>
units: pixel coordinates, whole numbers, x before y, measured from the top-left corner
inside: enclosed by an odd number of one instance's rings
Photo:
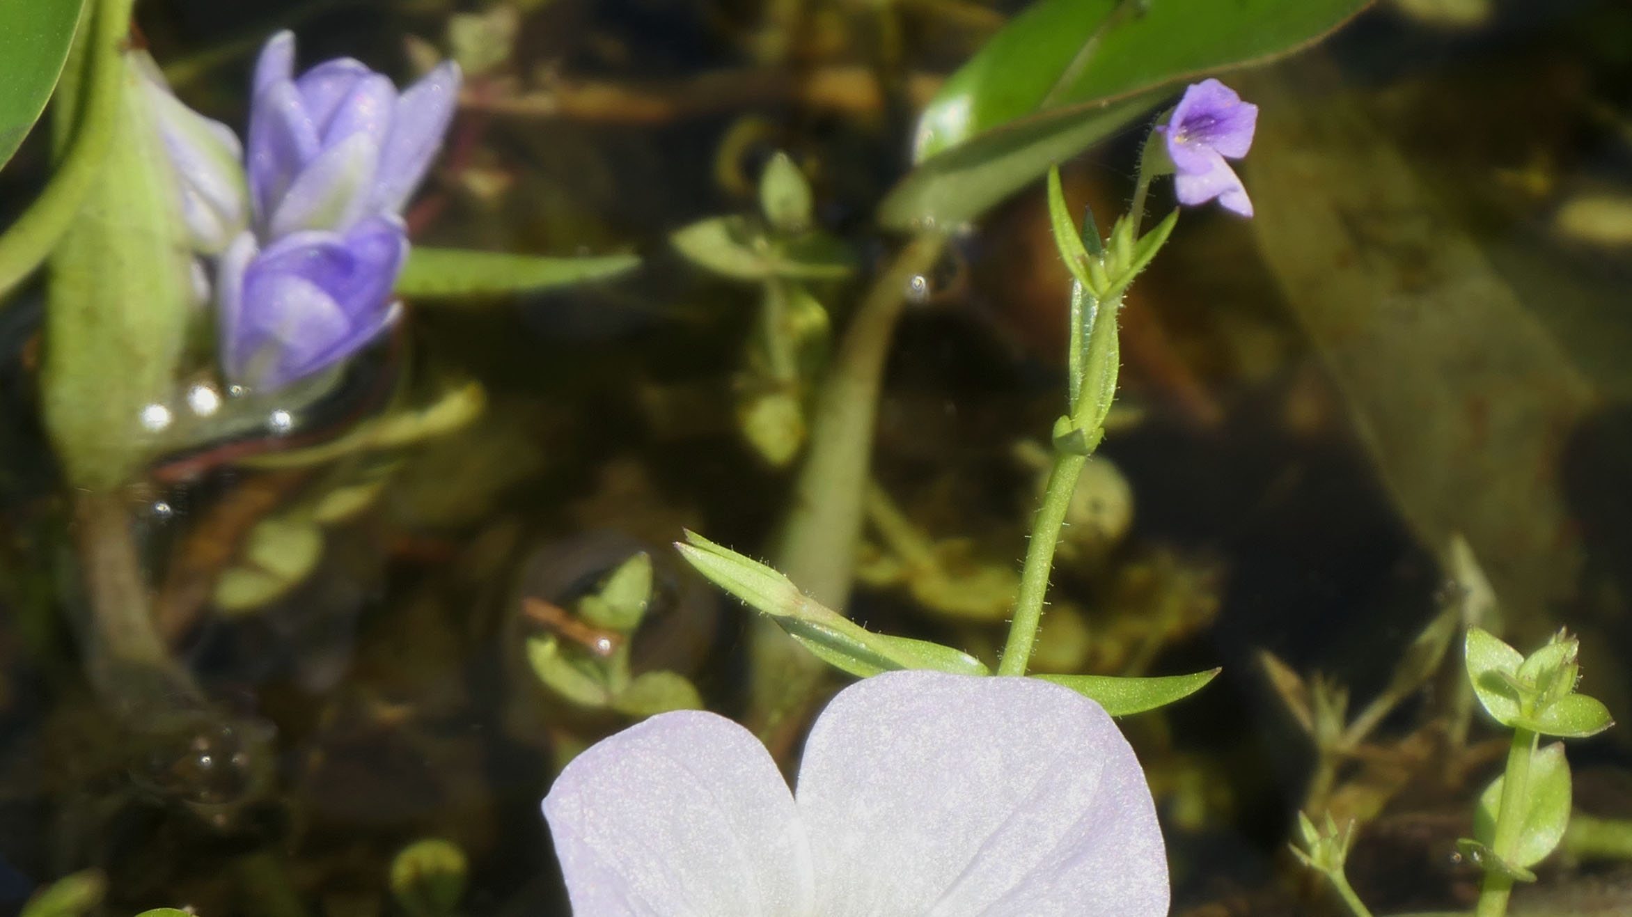
[[[82,0],[0,3],[0,166],[39,121],[69,59]]]

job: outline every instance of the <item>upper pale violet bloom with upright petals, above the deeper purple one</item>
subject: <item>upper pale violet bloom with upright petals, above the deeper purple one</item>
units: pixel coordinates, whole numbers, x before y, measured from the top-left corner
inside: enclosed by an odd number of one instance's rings
[[[349,57],[294,77],[295,38],[277,33],[255,67],[250,197],[263,241],[300,230],[346,232],[401,212],[442,145],[459,96],[444,62],[401,95]]]

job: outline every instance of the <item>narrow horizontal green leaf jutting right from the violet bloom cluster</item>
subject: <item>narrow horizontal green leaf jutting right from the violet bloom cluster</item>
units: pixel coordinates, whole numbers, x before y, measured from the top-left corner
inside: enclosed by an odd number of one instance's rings
[[[635,255],[550,258],[416,245],[397,277],[397,292],[411,299],[491,297],[601,281],[638,266]]]

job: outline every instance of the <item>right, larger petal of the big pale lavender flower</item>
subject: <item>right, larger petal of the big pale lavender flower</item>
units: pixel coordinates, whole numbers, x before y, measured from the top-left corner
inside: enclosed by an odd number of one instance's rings
[[[816,914],[1167,914],[1133,749],[1048,682],[914,671],[845,689],[806,741],[798,809]]]

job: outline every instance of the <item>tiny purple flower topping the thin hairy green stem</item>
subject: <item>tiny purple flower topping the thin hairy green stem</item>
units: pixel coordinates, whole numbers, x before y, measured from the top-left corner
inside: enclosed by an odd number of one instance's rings
[[[1240,101],[1235,90],[1217,80],[1203,80],[1185,90],[1167,124],[1157,126],[1167,137],[1180,204],[1193,207],[1217,197],[1226,209],[1252,215],[1247,189],[1224,158],[1247,155],[1257,124],[1258,106]]]

